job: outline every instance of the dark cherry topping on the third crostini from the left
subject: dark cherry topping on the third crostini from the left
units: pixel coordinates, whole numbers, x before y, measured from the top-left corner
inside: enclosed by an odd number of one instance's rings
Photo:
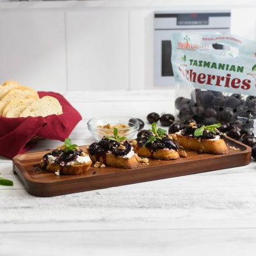
[[[138,132],[137,139],[136,139],[138,145],[140,147],[143,147],[145,145],[146,141],[148,140],[148,138],[150,138],[150,136],[152,136],[152,135],[153,135],[153,133],[148,130],[141,130],[140,132]],[[174,149],[174,150],[178,149],[175,142],[173,140],[171,140],[170,138],[168,138],[167,134],[166,134],[166,136],[164,136],[162,138],[162,140],[157,139],[153,143],[147,143],[146,147],[150,148],[150,150],[152,150],[152,151],[156,151],[157,149],[164,149],[164,148]]]

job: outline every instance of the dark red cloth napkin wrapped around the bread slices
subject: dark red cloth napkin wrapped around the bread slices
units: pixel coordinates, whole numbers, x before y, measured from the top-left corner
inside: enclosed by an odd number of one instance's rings
[[[31,149],[35,143],[29,142],[32,138],[42,137],[64,141],[74,127],[82,119],[81,115],[59,93],[38,92],[40,98],[48,95],[59,100],[62,115],[28,116],[26,118],[0,117],[0,154],[13,158],[17,154]]]

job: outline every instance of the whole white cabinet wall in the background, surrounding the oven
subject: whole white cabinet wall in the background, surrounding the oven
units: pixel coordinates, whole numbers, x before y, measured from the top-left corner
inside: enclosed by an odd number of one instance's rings
[[[153,89],[154,10],[232,9],[232,33],[256,39],[254,1],[175,2],[1,3],[0,81],[62,92]]]

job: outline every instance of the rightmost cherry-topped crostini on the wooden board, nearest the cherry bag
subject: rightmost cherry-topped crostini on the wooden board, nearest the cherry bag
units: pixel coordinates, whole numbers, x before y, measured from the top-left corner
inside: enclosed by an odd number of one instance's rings
[[[198,152],[227,154],[228,147],[223,140],[225,134],[218,130],[220,124],[189,124],[189,127],[176,132],[180,146]]]

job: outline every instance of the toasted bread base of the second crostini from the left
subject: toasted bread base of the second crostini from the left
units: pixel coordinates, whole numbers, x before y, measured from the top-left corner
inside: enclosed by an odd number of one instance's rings
[[[91,155],[90,153],[89,156],[94,163],[99,161],[100,163],[116,168],[133,169],[137,168],[139,164],[135,156],[132,156],[131,158],[124,158],[122,156],[115,156],[113,154],[105,154],[104,156],[97,157]]]

